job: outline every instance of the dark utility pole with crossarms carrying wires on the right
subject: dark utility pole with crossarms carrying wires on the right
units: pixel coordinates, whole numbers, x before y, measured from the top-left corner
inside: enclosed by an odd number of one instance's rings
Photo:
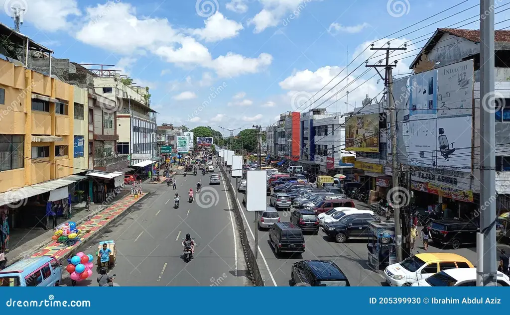
[[[400,187],[398,186],[398,177],[399,177],[399,169],[398,169],[398,160],[397,160],[397,111],[395,109],[395,100],[393,99],[393,77],[392,77],[392,69],[397,66],[397,61],[390,64],[390,50],[406,50],[406,44],[404,43],[404,47],[390,47],[390,43],[388,42],[388,47],[374,47],[374,43],[370,47],[370,50],[386,50],[386,63],[381,64],[382,61],[379,61],[378,65],[369,65],[368,61],[366,61],[366,67],[374,68],[382,80],[384,80],[385,86],[388,91],[388,108],[390,109],[390,134],[391,134],[391,162],[392,162],[392,179],[393,179],[393,194],[396,195]],[[382,77],[378,67],[385,68],[385,77]],[[395,191],[397,190],[397,191]],[[390,200],[388,200],[390,201]],[[402,261],[402,220],[400,217],[400,205],[397,203],[393,203],[394,214],[395,214],[395,251],[397,254],[397,261]],[[406,222],[404,222],[406,223]]]

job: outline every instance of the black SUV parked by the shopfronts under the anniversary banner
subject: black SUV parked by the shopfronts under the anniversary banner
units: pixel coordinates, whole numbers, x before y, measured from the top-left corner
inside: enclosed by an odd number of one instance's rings
[[[478,227],[471,222],[461,220],[432,220],[430,222],[432,242],[450,245],[457,249],[462,245],[476,244]]]

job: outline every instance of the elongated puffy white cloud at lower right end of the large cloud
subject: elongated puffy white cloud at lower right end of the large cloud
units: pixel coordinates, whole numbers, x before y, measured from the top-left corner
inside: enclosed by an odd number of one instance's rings
[[[262,53],[258,58],[246,58],[244,56],[228,52],[226,56],[220,56],[212,62],[212,68],[221,77],[234,77],[245,73],[257,73],[269,66],[273,56]]]

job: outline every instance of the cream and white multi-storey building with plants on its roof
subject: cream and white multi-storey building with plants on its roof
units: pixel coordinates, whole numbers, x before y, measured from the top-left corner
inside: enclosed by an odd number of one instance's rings
[[[148,88],[128,85],[115,72],[103,72],[94,77],[96,94],[107,99],[115,99],[114,110],[110,109],[108,118],[115,125],[119,154],[129,154],[131,165],[151,169],[158,162],[156,148],[156,111],[150,108]]]

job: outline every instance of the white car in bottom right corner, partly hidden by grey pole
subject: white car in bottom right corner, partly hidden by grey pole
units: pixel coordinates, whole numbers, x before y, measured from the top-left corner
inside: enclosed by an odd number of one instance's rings
[[[510,286],[510,278],[498,271],[497,286]],[[455,268],[440,271],[411,286],[476,286],[476,268]]]

